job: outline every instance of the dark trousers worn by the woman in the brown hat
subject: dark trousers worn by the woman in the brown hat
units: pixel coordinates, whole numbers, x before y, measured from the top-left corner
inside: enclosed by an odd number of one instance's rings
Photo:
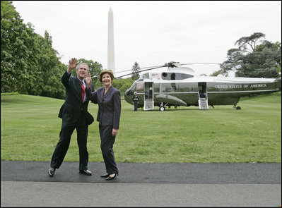
[[[99,125],[102,157],[105,161],[106,171],[108,174],[119,173],[117,163],[114,159],[114,145],[115,136],[112,136],[112,126]]]

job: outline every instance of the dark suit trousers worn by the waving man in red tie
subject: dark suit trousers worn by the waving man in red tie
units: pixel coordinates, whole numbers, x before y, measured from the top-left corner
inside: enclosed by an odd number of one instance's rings
[[[79,120],[78,120],[79,121]],[[84,122],[85,124],[86,122]],[[79,170],[88,169],[88,151],[87,151],[87,136],[88,136],[88,125],[64,125],[61,126],[61,132],[59,134],[59,142],[54,150],[51,167],[59,169],[61,163],[64,161],[66,152],[69,149],[69,143],[71,142],[71,135],[76,129],[77,143],[79,148]]]

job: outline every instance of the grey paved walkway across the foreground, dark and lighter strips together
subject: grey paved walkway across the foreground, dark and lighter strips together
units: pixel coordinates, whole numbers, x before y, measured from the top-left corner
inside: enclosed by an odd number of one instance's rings
[[[105,181],[104,163],[93,176],[64,161],[51,178],[49,161],[1,161],[1,207],[278,207],[281,163],[118,163]]]

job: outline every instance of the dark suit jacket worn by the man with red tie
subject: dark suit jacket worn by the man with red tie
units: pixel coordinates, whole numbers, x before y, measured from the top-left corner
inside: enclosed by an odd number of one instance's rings
[[[66,99],[59,111],[59,118],[62,118],[63,123],[66,125],[75,125],[82,113],[86,115],[89,98],[91,92],[94,91],[94,86],[91,84],[89,89],[86,88],[86,101],[82,102],[81,81],[77,77],[71,76],[66,71],[61,77],[61,82],[66,87]]]

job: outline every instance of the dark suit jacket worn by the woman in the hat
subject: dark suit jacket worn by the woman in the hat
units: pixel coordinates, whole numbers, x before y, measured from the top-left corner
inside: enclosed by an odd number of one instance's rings
[[[119,118],[122,110],[120,92],[114,87],[110,87],[104,95],[105,87],[100,87],[96,92],[92,92],[90,100],[99,105],[97,121],[102,126],[112,126],[119,129]]]

